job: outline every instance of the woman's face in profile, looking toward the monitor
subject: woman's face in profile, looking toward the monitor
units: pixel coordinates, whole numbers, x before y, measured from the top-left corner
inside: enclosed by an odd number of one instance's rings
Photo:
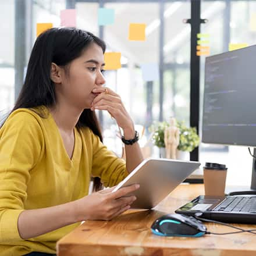
[[[103,66],[102,48],[92,43],[70,63],[68,72],[61,70],[61,84],[56,84],[57,101],[61,97],[78,108],[91,108],[91,102],[98,95],[92,92],[93,88],[105,83]]]

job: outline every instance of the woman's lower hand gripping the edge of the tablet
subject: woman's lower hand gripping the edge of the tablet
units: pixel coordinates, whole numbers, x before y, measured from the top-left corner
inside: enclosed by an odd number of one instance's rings
[[[101,219],[109,221],[122,214],[130,208],[136,200],[134,195],[127,195],[136,191],[140,186],[134,184],[112,193],[115,187],[101,190],[79,200],[76,200],[76,221],[86,221],[88,219]]]

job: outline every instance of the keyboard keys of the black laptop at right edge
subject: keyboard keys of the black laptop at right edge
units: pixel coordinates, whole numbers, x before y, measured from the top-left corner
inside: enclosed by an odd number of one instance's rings
[[[256,213],[256,197],[229,197],[212,211],[217,212],[244,212]]]

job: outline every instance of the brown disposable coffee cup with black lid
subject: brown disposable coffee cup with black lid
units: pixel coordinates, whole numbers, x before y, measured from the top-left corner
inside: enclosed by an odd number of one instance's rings
[[[220,163],[205,163],[204,191],[205,195],[225,195],[227,168]]]

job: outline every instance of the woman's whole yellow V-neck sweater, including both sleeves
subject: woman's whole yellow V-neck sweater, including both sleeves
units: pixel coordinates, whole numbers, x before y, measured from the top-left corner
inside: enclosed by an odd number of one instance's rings
[[[128,174],[125,161],[88,128],[75,129],[70,159],[54,118],[47,108],[44,112],[46,118],[17,109],[0,129],[0,256],[56,253],[56,241],[80,223],[23,240],[17,229],[19,214],[84,197],[90,176],[101,177],[104,186],[112,187]]]

